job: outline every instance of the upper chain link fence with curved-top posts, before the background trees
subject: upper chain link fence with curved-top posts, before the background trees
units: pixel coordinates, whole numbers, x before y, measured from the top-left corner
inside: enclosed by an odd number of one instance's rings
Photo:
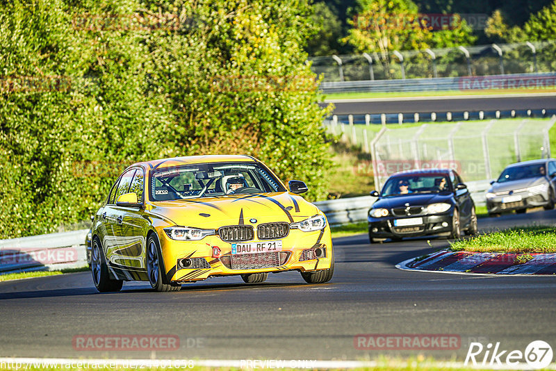
[[[529,74],[556,70],[556,40],[309,58],[322,81]]]

